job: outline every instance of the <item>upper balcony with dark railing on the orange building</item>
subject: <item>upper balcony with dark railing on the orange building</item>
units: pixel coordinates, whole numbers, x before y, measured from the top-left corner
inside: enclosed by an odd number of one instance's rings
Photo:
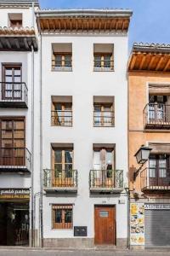
[[[145,129],[170,129],[170,105],[149,103],[144,108]]]

